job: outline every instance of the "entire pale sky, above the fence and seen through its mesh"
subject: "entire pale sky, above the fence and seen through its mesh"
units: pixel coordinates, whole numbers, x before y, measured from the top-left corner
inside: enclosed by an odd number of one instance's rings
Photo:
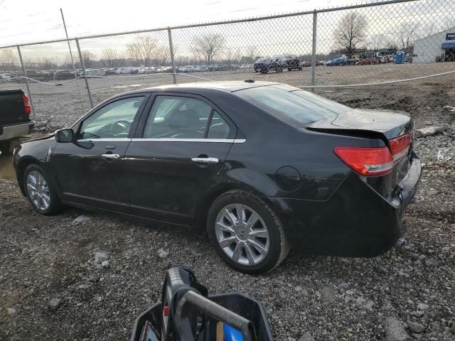
[[[70,38],[103,33],[120,33],[151,28],[207,23],[237,18],[252,18],[279,13],[311,11],[313,9],[346,6],[355,0],[129,0],[121,5],[104,0],[0,0],[0,47],[21,43],[65,38],[60,8],[65,14]],[[382,2],[365,0],[364,2]],[[364,48],[373,37],[382,37],[382,45],[396,41],[402,24],[416,26],[412,39],[429,36],[455,26],[455,0],[419,0],[387,6],[357,9],[368,22],[364,28]],[[329,53],[336,46],[336,28],[343,15],[350,11],[330,11],[318,14],[316,53]],[[238,60],[242,55],[267,57],[271,55],[307,55],[312,48],[312,14],[285,18],[174,29],[174,55],[177,63],[188,63],[201,55],[194,53],[195,38],[218,34],[225,43],[217,58]],[[154,31],[141,35],[128,34],[80,40],[82,53],[90,53],[92,60],[105,58],[106,50],[114,50],[114,59],[133,58],[128,46],[137,38],[148,36],[156,42],[154,54],[168,49],[168,33]],[[75,40],[70,46],[77,55]],[[254,48],[253,52],[251,48]],[[362,48],[362,46],[360,46]],[[8,51],[11,50],[11,51]],[[70,63],[66,42],[21,47],[25,63]],[[166,50],[167,51],[167,50]],[[8,53],[16,55],[16,48],[0,49],[0,58],[9,61]],[[3,56],[2,56],[3,53]],[[165,52],[168,55],[167,52]],[[74,55],[74,54],[73,54]],[[14,56],[13,56],[14,58]],[[232,58],[232,59],[231,59]],[[134,59],[134,58],[133,58]],[[0,60],[1,62],[1,60]]]

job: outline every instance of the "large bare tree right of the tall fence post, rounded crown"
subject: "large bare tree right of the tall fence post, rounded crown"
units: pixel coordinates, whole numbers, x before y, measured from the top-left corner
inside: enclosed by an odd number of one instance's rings
[[[368,22],[365,16],[362,13],[351,11],[338,21],[333,36],[338,46],[350,55],[360,43],[363,43],[367,29]]]

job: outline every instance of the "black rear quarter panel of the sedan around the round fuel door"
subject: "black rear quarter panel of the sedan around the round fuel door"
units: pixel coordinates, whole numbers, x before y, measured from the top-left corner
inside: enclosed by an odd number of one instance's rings
[[[234,97],[235,100],[232,100]],[[328,200],[350,173],[334,153],[336,146],[383,146],[378,139],[324,134],[290,126],[232,94],[213,99],[237,125],[237,139],[225,161],[221,183],[259,196]],[[279,168],[299,172],[299,185],[284,191],[277,186]]]

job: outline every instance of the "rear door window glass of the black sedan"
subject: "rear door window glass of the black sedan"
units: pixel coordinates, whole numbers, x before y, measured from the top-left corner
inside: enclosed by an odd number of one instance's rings
[[[180,96],[157,96],[144,129],[145,139],[226,139],[228,135],[228,124],[209,104]]]

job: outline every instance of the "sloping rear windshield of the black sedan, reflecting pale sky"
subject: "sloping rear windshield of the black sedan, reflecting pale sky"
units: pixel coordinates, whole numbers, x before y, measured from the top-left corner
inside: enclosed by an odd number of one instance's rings
[[[252,87],[239,91],[237,94],[265,112],[295,126],[336,117],[340,112],[346,112],[350,109],[343,104],[338,104],[310,92],[289,91],[279,88],[279,86]]]

